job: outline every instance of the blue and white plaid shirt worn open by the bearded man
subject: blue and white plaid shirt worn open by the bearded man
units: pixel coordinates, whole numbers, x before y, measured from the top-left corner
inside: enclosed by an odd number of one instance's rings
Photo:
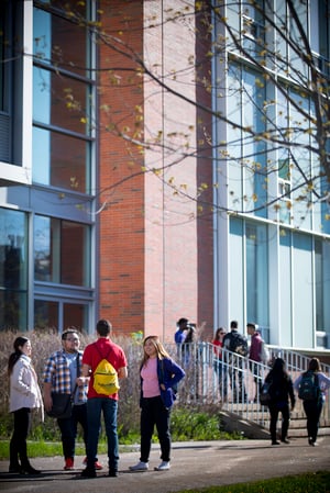
[[[82,351],[78,351],[79,368],[81,368]],[[64,350],[53,352],[46,361],[43,374],[44,383],[52,383],[52,392],[70,394],[70,370]],[[88,383],[78,388],[78,402],[87,402]]]

